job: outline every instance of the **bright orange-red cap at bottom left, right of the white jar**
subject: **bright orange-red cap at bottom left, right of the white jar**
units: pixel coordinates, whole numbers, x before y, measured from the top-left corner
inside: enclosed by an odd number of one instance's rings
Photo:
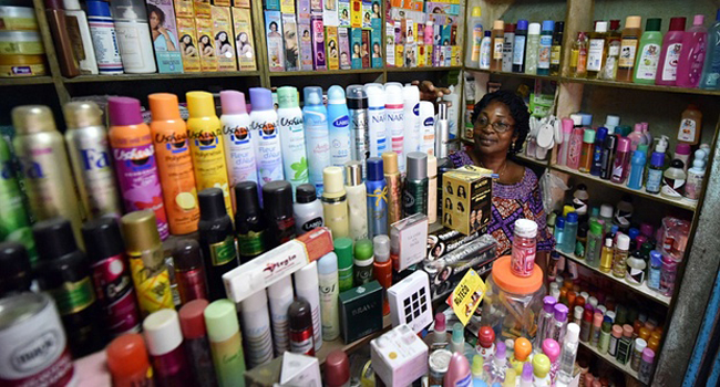
[[[122,335],[105,349],[107,368],[113,377],[147,372],[147,349],[143,336],[137,333]]]

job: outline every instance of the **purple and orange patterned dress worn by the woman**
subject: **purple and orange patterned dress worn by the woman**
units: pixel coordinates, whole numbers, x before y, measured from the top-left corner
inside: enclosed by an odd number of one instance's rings
[[[465,151],[449,156],[455,168],[473,165]],[[543,197],[535,172],[525,168],[523,179],[512,185],[493,180],[493,199],[487,232],[497,240],[497,255],[508,255],[513,247],[515,220],[525,218],[537,223],[537,251],[552,251],[555,241],[547,230]]]

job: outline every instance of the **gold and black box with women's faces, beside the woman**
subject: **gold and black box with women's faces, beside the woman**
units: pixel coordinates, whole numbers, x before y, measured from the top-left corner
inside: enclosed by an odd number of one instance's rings
[[[464,166],[443,175],[444,227],[467,236],[490,223],[492,174],[490,169]]]

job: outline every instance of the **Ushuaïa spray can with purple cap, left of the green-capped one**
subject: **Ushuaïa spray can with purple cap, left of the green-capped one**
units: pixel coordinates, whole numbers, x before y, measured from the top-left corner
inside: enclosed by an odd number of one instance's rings
[[[255,161],[260,187],[282,180],[282,149],[277,130],[278,115],[272,107],[272,93],[263,87],[250,87],[250,138],[255,145]],[[309,148],[309,147],[308,147]]]

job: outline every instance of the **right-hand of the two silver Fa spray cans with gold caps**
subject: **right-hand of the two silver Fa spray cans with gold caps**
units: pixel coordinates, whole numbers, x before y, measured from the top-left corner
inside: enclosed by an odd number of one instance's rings
[[[65,104],[65,143],[75,172],[75,184],[89,218],[120,218],[122,209],[110,156],[103,112],[94,102]]]

